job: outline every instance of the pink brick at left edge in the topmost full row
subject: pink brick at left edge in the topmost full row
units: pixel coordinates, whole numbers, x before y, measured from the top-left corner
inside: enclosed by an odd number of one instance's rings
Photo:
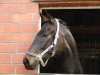
[[[0,13],[18,12],[17,4],[0,4]]]

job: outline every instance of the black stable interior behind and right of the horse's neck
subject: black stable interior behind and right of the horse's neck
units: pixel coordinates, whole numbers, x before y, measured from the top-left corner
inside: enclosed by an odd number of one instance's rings
[[[44,11],[44,10],[43,10]],[[77,43],[85,74],[100,74],[100,10],[48,9],[53,17],[64,20]]]

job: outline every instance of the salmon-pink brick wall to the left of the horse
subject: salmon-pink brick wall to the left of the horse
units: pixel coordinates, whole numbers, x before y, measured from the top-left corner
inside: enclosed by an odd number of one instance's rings
[[[38,31],[38,12],[31,0],[0,0],[0,75],[36,73],[22,61]]]

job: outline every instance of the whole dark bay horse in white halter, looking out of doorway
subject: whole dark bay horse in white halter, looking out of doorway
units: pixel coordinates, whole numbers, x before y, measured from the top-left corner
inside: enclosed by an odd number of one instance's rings
[[[41,73],[82,73],[75,40],[65,23],[48,13],[41,19],[42,28],[23,59],[25,68],[34,70],[40,64]]]

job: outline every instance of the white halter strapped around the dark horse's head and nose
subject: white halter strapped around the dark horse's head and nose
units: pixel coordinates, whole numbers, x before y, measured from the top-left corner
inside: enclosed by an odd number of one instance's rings
[[[56,23],[57,23],[56,24],[57,25],[57,31],[56,31],[55,38],[54,38],[54,41],[52,42],[52,44],[46,50],[44,50],[41,54],[35,54],[35,53],[31,53],[29,51],[26,52],[27,55],[32,55],[32,56],[37,57],[43,67],[46,66],[50,57],[46,60],[46,62],[44,62],[43,59],[42,59],[42,56],[44,54],[46,54],[48,51],[50,51],[52,48],[54,48],[54,49],[52,50],[51,57],[53,57],[55,55],[55,46],[56,46],[57,40],[59,38],[59,21],[58,21],[58,19],[55,19],[55,20],[56,20]]]

